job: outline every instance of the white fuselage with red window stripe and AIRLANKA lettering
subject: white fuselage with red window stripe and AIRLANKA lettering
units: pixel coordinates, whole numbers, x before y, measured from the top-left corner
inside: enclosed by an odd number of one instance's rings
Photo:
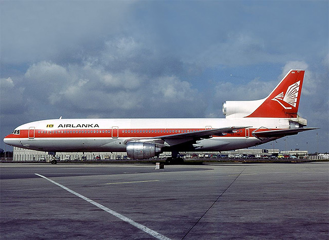
[[[23,124],[15,129],[16,134],[8,135],[4,141],[11,146],[46,152],[126,152],[126,143],[130,139],[156,138],[228,126],[245,127],[177,148],[178,151],[227,151],[274,140],[276,138],[258,139],[252,132],[259,128],[289,129],[289,120],[292,119],[52,119]]]

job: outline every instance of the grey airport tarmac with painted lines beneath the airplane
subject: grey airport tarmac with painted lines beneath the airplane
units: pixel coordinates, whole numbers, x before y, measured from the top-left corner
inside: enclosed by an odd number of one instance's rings
[[[328,239],[329,163],[0,164],[1,239]]]

